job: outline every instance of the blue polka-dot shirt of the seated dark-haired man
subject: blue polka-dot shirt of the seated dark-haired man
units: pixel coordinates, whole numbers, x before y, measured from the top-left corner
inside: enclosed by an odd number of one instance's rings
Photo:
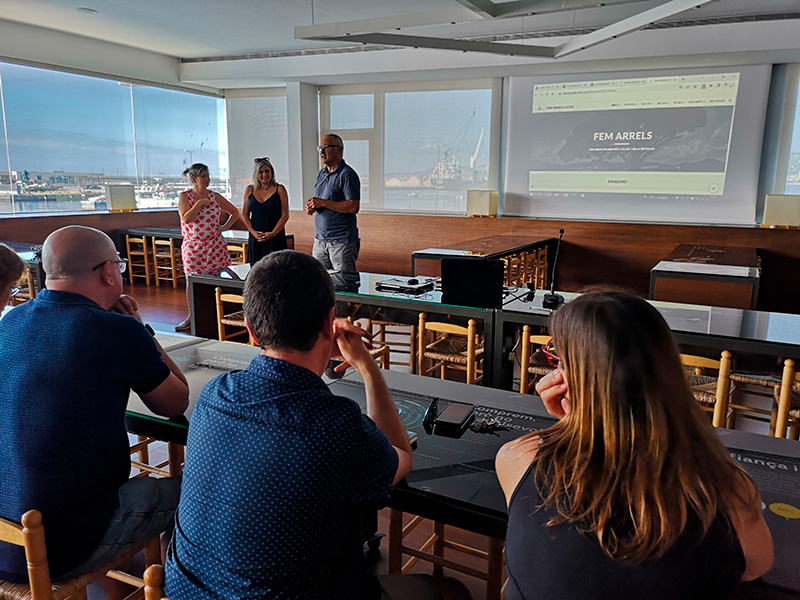
[[[166,593],[359,597],[361,511],[389,501],[397,453],[311,371],[259,355],[192,413]]]

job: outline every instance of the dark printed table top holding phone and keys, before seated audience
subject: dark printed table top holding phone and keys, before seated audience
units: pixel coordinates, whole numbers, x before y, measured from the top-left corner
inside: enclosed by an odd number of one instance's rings
[[[224,371],[246,367],[258,350],[230,342],[168,338],[163,342],[170,356],[189,379],[191,398],[186,416],[158,417],[132,394],[127,423],[133,433],[182,443],[202,386]],[[505,442],[555,422],[546,415],[539,398],[407,373],[383,374],[406,428],[418,435],[414,468],[396,487],[391,505],[503,539],[506,506],[494,472],[494,457]],[[364,408],[364,387],[352,369],[345,378],[326,382],[334,393],[352,398]],[[461,439],[427,435],[422,416],[434,397],[440,402],[474,404],[477,418],[496,418],[512,429],[496,436],[468,430]],[[761,490],[764,517],[776,548],[775,565],[763,580],[800,591],[800,570],[796,568],[800,561],[800,445],[730,430],[719,430],[719,434],[732,458],[750,473]]]

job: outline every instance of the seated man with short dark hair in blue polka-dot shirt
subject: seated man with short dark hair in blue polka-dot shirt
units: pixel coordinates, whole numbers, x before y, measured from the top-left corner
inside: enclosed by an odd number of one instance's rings
[[[276,252],[250,271],[244,298],[261,353],[197,402],[166,594],[441,598],[429,576],[379,583],[363,570],[362,511],[389,501],[411,447],[365,332],[334,321],[330,276],[307,254]],[[367,415],[321,379],[337,354],[364,379]],[[414,589],[387,592],[391,580]]]

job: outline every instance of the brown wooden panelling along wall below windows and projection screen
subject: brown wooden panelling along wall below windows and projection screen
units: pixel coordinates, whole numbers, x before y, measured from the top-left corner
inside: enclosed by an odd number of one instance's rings
[[[177,226],[177,211],[80,214],[0,219],[0,239],[41,243],[48,233],[69,223],[114,229],[140,225]],[[411,253],[446,247],[491,235],[510,234],[532,240],[557,237],[565,230],[556,274],[557,287],[576,291],[587,285],[614,284],[647,295],[650,269],[678,244],[742,246],[759,249],[762,279],[759,308],[800,313],[800,230],[757,227],[645,225],[545,221],[500,217],[435,217],[362,213],[359,268],[375,273],[411,274]],[[292,211],[286,226],[296,248],[311,252],[314,219]]]

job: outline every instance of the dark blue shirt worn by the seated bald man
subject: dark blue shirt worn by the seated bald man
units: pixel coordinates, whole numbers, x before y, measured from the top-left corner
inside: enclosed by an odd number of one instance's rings
[[[169,368],[136,319],[43,290],[0,321],[0,516],[42,512],[50,574],[97,547],[130,475],[125,407]],[[21,548],[0,544],[0,578],[27,581]]]

